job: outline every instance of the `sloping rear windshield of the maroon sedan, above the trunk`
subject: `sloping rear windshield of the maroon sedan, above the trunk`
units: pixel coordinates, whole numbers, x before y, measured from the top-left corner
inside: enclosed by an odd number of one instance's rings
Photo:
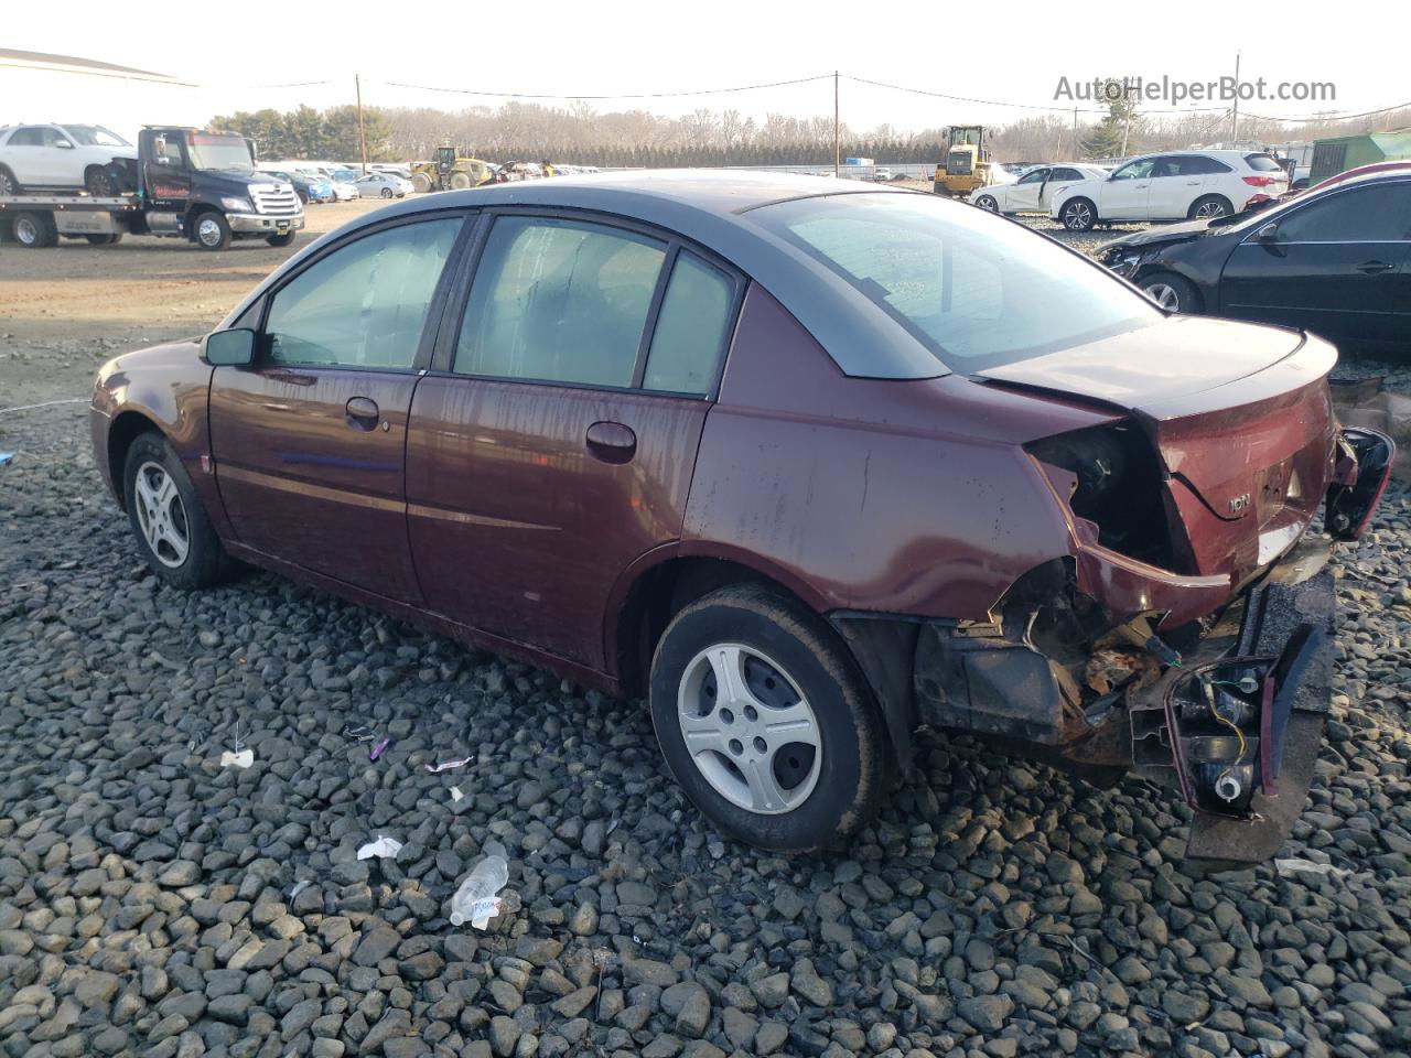
[[[830,195],[749,217],[837,272],[957,372],[1163,319],[1058,243],[930,195]]]

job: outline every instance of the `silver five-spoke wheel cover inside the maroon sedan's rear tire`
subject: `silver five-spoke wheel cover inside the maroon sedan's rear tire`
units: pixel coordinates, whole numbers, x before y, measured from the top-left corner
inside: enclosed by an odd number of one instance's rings
[[[823,731],[783,667],[742,643],[717,643],[686,666],[676,717],[715,793],[759,815],[793,811],[823,767]]]

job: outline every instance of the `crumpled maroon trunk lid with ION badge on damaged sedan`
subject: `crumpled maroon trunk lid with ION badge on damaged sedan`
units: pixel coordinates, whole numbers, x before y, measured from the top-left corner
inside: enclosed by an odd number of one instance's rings
[[[979,375],[1130,412],[1167,471],[1185,571],[1239,581],[1287,552],[1322,501],[1336,358],[1297,332],[1173,317]]]

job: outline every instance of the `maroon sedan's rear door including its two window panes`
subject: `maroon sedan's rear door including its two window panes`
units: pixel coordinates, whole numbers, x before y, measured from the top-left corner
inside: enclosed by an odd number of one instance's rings
[[[614,585],[680,539],[737,289],[666,237],[494,219],[412,403],[408,525],[430,609],[610,667]]]

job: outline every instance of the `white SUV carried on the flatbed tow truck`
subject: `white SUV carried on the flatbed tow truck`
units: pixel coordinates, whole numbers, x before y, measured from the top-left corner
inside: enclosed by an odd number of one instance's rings
[[[0,196],[27,190],[86,188],[119,192],[114,158],[137,164],[137,148],[103,126],[11,126],[0,128]]]

